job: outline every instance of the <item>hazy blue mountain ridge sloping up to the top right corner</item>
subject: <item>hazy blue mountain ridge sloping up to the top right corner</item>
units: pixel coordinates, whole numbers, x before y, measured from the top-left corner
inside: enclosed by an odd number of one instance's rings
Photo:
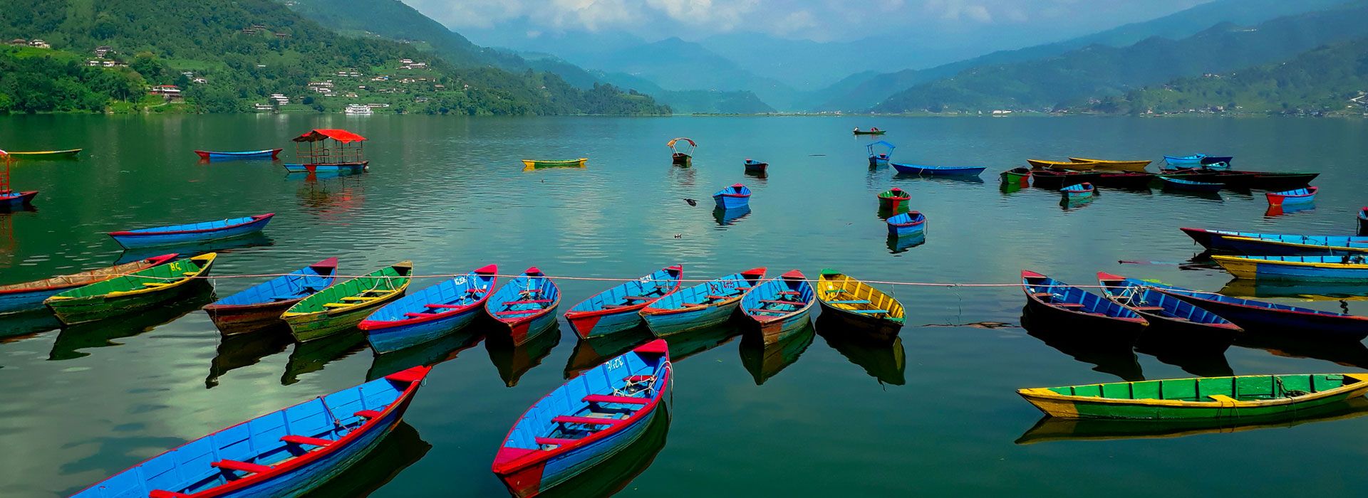
[[[1193,37],[1089,45],[1022,63],[979,65],[893,94],[876,112],[1042,109],[1123,94],[1145,85],[1293,57],[1368,34],[1368,1],[1278,18],[1253,27],[1220,23]]]

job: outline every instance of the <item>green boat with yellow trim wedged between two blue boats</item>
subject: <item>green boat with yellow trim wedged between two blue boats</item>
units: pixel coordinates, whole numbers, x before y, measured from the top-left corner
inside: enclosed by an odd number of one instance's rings
[[[334,284],[298,302],[280,315],[300,342],[354,330],[365,317],[384,303],[404,296],[413,273],[412,261]]]

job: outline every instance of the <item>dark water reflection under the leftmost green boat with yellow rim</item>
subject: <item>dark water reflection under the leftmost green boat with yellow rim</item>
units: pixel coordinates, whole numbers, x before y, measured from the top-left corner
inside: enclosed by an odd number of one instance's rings
[[[171,323],[212,300],[213,289],[204,285],[176,302],[159,304],[145,312],[119,317],[119,319],[96,321],[68,326],[62,329],[62,333],[57,334],[57,340],[52,342],[52,352],[48,353],[48,359],[71,360],[89,356],[89,353],[81,352],[81,349],[122,345],[120,342],[114,341],[118,338],[138,336],[161,325]]]

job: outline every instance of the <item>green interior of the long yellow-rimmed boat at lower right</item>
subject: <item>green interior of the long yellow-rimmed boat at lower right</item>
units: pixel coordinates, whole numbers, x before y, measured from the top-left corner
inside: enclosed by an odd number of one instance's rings
[[[1239,401],[1275,400],[1319,393],[1360,381],[1345,375],[1241,375],[1197,379],[1093,383],[1086,386],[1049,387],[1064,396],[1109,400],[1211,401],[1209,396],[1227,396]]]

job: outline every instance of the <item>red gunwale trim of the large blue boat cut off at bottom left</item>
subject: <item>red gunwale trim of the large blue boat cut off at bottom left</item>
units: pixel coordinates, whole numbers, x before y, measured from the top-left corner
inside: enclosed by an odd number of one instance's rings
[[[238,490],[241,490],[244,487],[252,486],[252,484],[254,484],[257,482],[263,482],[263,480],[269,480],[269,479],[274,479],[274,478],[279,478],[280,475],[285,475],[285,473],[289,473],[291,471],[295,471],[295,469],[298,469],[298,468],[301,468],[304,465],[308,465],[308,464],[311,464],[311,463],[313,463],[316,460],[327,457],[332,452],[337,452],[337,450],[341,450],[342,448],[346,448],[353,441],[358,439],[363,434],[367,434],[371,430],[373,430],[376,427],[376,423],[379,420],[390,416],[390,413],[393,413],[395,409],[406,409],[408,405],[409,405],[409,402],[413,401],[413,394],[417,393],[419,387],[423,385],[423,379],[427,378],[427,374],[430,371],[432,371],[432,367],[412,367],[412,368],[408,368],[408,370],[401,370],[398,372],[386,375],[384,377],[386,379],[390,379],[390,381],[394,381],[394,382],[409,382],[409,386],[404,389],[404,393],[401,393],[399,397],[394,400],[394,402],[391,402],[389,407],[384,408],[383,412],[380,412],[380,416],[376,416],[373,419],[367,419],[365,423],[363,423],[360,427],[357,427],[356,430],[352,430],[346,435],[335,439],[331,445],[313,449],[313,450],[311,450],[311,452],[308,452],[305,454],[301,454],[298,457],[294,457],[294,458],[282,461],[279,464],[271,465],[271,471],[269,472],[249,473],[249,475],[246,475],[244,478],[238,478],[237,480],[231,480],[228,483],[224,483],[223,486],[211,487],[211,488],[204,490],[204,491],[186,494],[185,497],[189,497],[189,498],[222,497],[224,494],[228,494],[228,493],[233,493],[233,491],[238,491]],[[313,401],[313,400],[306,400],[306,401],[302,401],[302,402],[297,402],[294,405],[282,408],[282,411],[293,408],[293,407],[302,405],[302,404],[309,402],[309,401]],[[223,433],[223,431],[226,431],[228,428],[234,428],[234,427],[238,427],[241,424],[245,424],[248,422],[250,422],[250,420],[244,420],[244,422],[239,422],[237,424],[233,424],[233,426],[220,428],[218,431],[205,434],[205,435],[200,437],[198,439],[208,438],[211,435]],[[196,439],[196,441],[198,441],[198,439]],[[170,450],[161,452],[161,454],[167,454],[170,452],[174,452],[174,450],[182,448],[182,446],[185,446],[185,445],[181,445],[181,446],[172,448]],[[157,457],[160,457],[161,454],[157,454]],[[152,457],[152,458],[156,458],[156,457]],[[144,460],[144,461],[138,463],[137,465],[129,467],[127,469],[123,469],[120,472],[115,472],[112,475],[127,472],[129,469],[133,469],[133,468],[135,468],[138,465],[142,465],[142,464],[150,461],[152,458]],[[98,483],[92,484],[90,487],[94,487],[94,486],[98,486]],[[86,487],[85,490],[89,490],[90,487]],[[85,491],[85,490],[81,490],[81,491]],[[81,493],[81,491],[77,491],[77,493]]]

